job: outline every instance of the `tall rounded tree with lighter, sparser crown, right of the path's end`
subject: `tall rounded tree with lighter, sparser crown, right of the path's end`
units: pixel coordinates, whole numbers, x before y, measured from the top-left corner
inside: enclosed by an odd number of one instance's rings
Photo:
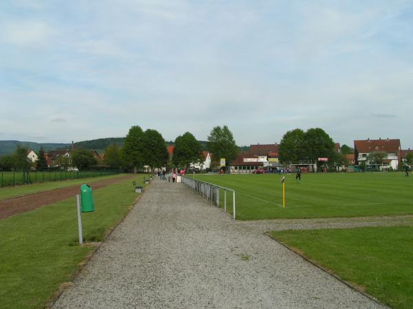
[[[225,158],[226,161],[232,161],[237,157],[239,152],[237,144],[231,130],[228,126],[214,126],[208,135],[209,151],[215,154],[215,158]]]

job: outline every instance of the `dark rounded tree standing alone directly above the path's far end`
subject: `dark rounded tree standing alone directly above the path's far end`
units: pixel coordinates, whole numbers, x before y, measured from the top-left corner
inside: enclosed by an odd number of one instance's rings
[[[185,167],[191,163],[200,161],[201,144],[195,137],[187,132],[175,139],[173,163],[176,166]]]

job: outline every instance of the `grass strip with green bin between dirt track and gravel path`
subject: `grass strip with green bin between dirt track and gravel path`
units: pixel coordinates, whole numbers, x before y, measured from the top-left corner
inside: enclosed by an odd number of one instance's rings
[[[95,211],[83,214],[86,242],[103,240],[138,194],[132,181],[94,190]],[[80,247],[76,197],[0,220],[0,307],[45,306],[63,282],[70,281],[93,247]]]

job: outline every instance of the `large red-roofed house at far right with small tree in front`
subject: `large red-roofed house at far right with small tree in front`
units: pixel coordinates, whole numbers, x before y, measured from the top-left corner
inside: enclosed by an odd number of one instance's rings
[[[397,170],[401,161],[400,139],[362,139],[354,141],[354,160],[357,165],[368,162],[368,155],[374,152],[385,152],[384,163]]]

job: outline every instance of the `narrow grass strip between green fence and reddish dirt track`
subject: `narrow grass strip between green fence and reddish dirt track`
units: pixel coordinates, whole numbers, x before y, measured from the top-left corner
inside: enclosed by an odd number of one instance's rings
[[[17,187],[3,187],[0,188],[0,201],[6,198],[13,198],[28,194],[39,193],[48,190],[59,189],[61,187],[70,187],[71,185],[80,185],[81,183],[93,183],[94,181],[101,181],[104,179],[125,176],[126,174],[111,174],[107,176],[99,176],[85,179],[74,179],[67,181],[48,181],[45,183],[34,183],[32,185],[20,185]]]

